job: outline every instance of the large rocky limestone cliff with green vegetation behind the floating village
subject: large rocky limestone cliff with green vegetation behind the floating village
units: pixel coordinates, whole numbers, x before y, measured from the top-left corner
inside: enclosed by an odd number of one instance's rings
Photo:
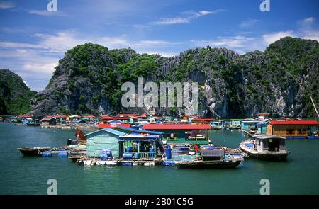
[[[60,60],[50,83],[33,103],[35,115],[54,113],[147,113],[184,115],[184,108],[123,108],[121,85],[145,82],[198,82],[198,115],[224,118],[273,115],[313,116],[319,104],[319,44],[283,38],[264,52],[245,55],[211,47],[175,57],[139,55],[86,43]],[[145,83],[144,82],[144,83]]]

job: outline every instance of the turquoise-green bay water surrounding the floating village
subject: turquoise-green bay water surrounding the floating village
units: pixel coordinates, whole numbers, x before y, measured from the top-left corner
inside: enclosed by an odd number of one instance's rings
[[[67,158],[23,157],[17,147],[60,147],[74,130],[0,124],[0,194],[46,194],[57,179],[58,194],[259,194],[269,179],[272,194],[319,194],[319,140],[291,140],[286,162],[247,159],[237,169],[179,170],[172,167],[85,168]],[[215,145],[237,148],[247,137],[237,130],[211,132]]]

